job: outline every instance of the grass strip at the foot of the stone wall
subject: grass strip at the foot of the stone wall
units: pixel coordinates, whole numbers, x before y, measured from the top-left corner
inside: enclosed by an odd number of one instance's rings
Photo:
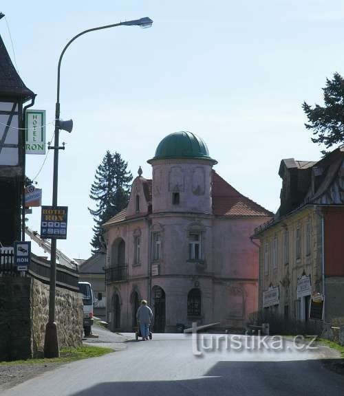
[[[93,347],[89,345],[83,345],[78,348],[63,348],[60,351],[60,358],[52,359],[28,359],[28,360],[14,360],[12,362],[0,362],[0,364],[42,364],[42,363],[68,363],[74,362],[75,360],[96,358],[103,356],[106,353],[114,352],[114,349]]]

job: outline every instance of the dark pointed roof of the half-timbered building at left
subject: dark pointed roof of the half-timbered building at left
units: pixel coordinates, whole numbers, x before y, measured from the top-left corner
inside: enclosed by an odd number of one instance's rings
[[[6,50],[0,36],[0,95],[22,96],[24,100],[34,97],[34,93],[25,86]]]

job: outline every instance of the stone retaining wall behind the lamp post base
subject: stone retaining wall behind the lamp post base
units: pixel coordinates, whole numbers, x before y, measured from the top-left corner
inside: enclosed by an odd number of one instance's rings
[[[49,286],[34,278],[0,278],[0,361],[43,354]],[[61,347],[78,347],[83,336],[83,300],[56,287],[56,324]]]

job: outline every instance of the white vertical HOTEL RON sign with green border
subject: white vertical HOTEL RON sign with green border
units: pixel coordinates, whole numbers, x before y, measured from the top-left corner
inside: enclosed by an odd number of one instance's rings
[[[26,154],[45,154],[45,110],[26,110]]]

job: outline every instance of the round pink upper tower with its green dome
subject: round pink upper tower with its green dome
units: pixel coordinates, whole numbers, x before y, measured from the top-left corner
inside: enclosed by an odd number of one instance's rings
[[[200,137],[171,133],[148,163],[153,167],[153,212],[212,213],[211,171],[217,162]]]

